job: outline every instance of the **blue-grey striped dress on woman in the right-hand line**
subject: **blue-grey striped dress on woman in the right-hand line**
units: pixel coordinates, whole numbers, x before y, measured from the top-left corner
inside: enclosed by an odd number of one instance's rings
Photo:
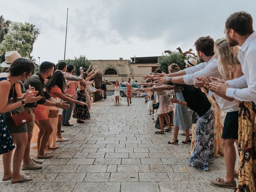
[[[180,101],[185,101],[182,92],[174,92],[175,98]],[[192,126],[192,114],[193,111],[189,110],[184,105],[176,104],[174,113],[174,126],[177,126],[179,130],[185,131],[191,129]]]

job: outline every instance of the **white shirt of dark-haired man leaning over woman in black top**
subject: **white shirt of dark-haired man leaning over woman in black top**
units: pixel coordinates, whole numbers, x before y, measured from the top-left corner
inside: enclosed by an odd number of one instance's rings
[[[197,77],[220,77],[220,72],[218,71],[218,60],[212,57],[208,62],[200,63],[196,66],[184,69],[186,75],[183,76],[183,80],[186,84],[193,84]],[[214,94],[214,93],[213,93]],[[216,94],[214,97],[219,104],[220,108],[224,112],[238,111],[238,104],[236,100],[228,101]]]

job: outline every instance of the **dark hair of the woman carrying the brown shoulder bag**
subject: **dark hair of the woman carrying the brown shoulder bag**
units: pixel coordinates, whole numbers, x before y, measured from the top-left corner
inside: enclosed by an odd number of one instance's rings
[[[29,75],[34,74],[34,63],[30,60],[24,58],[18,58],[14,62],[12,62],[9,73],[11,76],[19,76],[26,72],[26,78]]]

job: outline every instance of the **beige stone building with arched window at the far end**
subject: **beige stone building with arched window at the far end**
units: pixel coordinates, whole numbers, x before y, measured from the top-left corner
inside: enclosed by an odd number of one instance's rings
[[[102,80],[115,83],[122,78],[127,81],[130,73],[133,74],[135,82],[141,82],[144,74],[150,74],[158,68],[158,57],[132,57],[131,60],[91,60],[92,66],[101,68]],[[114,90],[113,86],[107,85],[108,90]]]

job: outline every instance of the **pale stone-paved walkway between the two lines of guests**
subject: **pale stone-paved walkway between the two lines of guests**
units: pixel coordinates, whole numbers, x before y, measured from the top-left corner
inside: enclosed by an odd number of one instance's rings
[[[124,98],[126,99],[126,98]],[[224,176],[224,158],[209,172],[189,167],[190,145],[167,144],[172,133],[156,135],[143,98],[113,106],[110,97],[92,104],[91,119],[63,128],[70,141],[59,143],[42,170],[26,170],[31,182],[0,181],[1,192],[232,192],[210,179]],[[74,120],[72,120],[74,122]],[[32,149],[34,156],[35,148]],[[0,177],[3,166],[0,162]]]

